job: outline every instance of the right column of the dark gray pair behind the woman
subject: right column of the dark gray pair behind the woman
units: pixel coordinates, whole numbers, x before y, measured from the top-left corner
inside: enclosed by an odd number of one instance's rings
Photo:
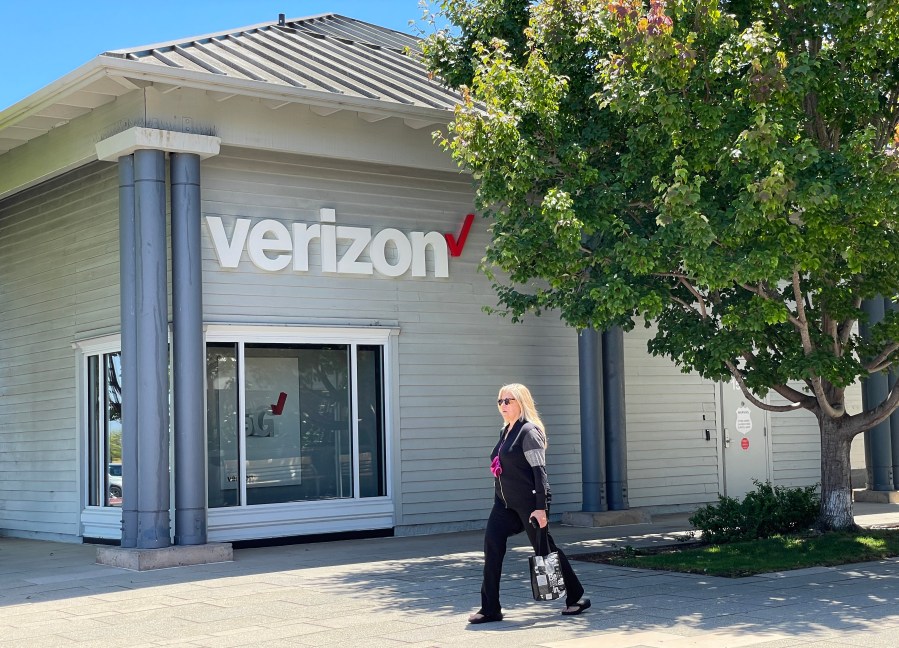
[[[627,500],[627,430],[624,400],[624,331],[602,334],[602,381],[606,431],[606,498],[610,511],[630,508]]]

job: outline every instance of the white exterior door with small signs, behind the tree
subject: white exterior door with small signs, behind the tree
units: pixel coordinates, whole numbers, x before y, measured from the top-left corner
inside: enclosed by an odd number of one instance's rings
[[[741,499],[753,480],[770,479],[768,413],[750,403],[736,381],[721,385],[724,494]]]

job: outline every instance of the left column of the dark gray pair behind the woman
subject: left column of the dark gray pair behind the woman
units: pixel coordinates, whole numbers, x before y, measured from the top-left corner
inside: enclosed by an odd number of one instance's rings
[[[584,329],[578,332],[577,340],[583,510],[607,511],[602,339],[596,329]]]

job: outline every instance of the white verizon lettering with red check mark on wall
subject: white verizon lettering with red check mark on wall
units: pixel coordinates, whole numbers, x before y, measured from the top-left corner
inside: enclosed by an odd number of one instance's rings
[[[372,232],[368,227],[336,225],[333,209],[319,210],[318,223],[292,223],[249,218],[234,221],[226,232],[222,219],[207,216],[206,226],[219,265],[236,268],[244,251],[260,270],[279,272],[287,268],[308,272],[311,252],[317,251],[321,271],[332,274],[399,277],[411,271],[413,277],[426,276],[425,255],[430,248],[434,276],[449,276],[449,257],[460,256],[474,216],[465,217],[458,240],[441,232],[409,232],[386,228]]]

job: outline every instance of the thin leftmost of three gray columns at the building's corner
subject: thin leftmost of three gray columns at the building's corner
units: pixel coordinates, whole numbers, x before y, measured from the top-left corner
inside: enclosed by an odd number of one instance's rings
[[[122,547],[137,546],[137,263],[134,156],[119,158],[119,303],[122,327]]]

